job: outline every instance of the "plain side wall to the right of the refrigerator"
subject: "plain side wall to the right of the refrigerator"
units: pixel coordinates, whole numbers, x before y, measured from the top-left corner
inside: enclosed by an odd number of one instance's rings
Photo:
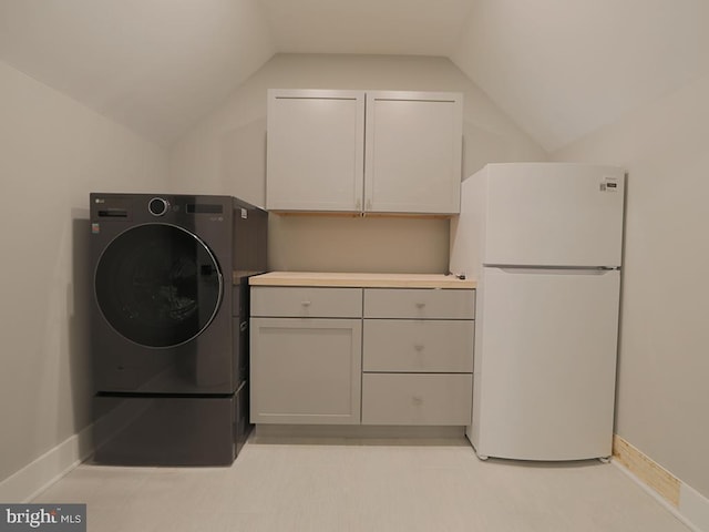
[[[628,170],[616,432],[709,497],[709,76],[553,154]]]

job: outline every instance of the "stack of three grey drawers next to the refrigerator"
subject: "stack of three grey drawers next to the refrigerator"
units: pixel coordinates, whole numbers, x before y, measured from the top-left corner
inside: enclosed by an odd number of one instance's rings
[[[362,424],[470,424],[474,290],[364,290]]]

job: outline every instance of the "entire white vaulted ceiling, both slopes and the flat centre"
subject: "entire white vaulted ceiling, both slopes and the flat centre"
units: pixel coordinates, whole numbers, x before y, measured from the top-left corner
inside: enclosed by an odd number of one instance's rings
[[[169,145],[274,53],[442,55],[547,151],[709,72],[706,0],[0,0],[0,60]]]

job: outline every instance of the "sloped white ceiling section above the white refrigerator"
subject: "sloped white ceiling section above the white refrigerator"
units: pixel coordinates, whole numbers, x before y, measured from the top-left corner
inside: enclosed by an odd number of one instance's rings
[[[475,0],[452,59],[551,152],[709,72],[709,2]]]

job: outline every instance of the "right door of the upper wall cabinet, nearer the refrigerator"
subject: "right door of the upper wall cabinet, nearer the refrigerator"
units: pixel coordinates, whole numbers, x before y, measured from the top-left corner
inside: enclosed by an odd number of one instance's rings
[[[364,211],[460,212],[462,108],[460,93],[367,93]]]

